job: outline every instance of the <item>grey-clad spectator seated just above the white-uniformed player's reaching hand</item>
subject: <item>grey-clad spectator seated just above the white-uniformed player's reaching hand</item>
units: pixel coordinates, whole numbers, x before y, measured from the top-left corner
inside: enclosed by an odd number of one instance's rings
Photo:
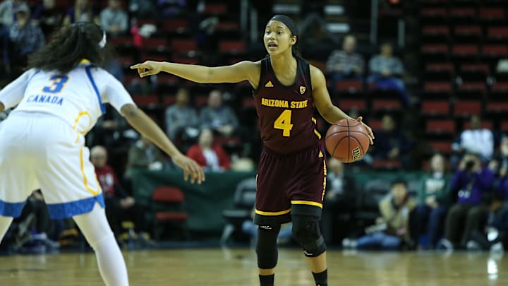
[[[195,108],[189,106],[190,96],[188,89],[180,88],[176,92],[176,102],[167,107],[164,117],[166,119],[166,133],[171,141],[185,134],[191,138],[198,136],[200,124]]]

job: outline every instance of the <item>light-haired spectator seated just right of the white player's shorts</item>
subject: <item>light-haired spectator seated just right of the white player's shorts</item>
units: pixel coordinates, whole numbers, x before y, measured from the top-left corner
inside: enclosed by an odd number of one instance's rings
[[[95,174],[97,174],[97,180],[102,188],[109,225],[111,225],[111,230],[113,230],[116,237],[121,234],[121,222],[132,220],[138,238],[148,241],[150,236],[147,232],[146,210],[139,203],[136,203],[132,196],[128,196],[123,191],[113,168],[107,165],[106,148],[102,146],[93,147],[90,150],[90,160],[95,167]]]

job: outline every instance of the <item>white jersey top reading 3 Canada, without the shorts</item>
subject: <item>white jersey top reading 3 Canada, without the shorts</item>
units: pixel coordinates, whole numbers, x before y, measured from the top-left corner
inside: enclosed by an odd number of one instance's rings
[[[34,68],[25,71],[0,91],[0,102],[6,108],[19,103],[11,114],[52,114],[82,134],[90,131],[105,112],[104,103],[109,102],[118,111],[123,105],[134,104],[114,76],[87,61],[66,74]]]

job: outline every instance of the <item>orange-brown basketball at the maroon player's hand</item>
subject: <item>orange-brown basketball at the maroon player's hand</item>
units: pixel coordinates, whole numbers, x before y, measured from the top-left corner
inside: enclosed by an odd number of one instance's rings
[[[370,145],[368,131],[352,119],[342,119],[329,127],[325,139],[328,153],[344,163],[360,160]]]

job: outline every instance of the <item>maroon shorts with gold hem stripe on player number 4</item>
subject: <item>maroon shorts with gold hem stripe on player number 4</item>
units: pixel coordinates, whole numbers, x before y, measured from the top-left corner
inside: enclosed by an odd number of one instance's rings
[[[291,215],[320,218],[326,189],[326,157],[321,145],[288,155],[264,148],[258,165],[254,222],[272,225]]]

